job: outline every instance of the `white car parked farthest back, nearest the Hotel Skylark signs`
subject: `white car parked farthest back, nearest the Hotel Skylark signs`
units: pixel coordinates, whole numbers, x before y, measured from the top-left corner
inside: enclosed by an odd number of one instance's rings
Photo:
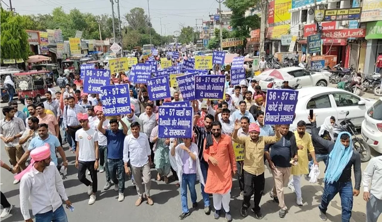
[[[279,71],[282,74],[289,74],[294,77],[292,79],[288,79],[289,86],[291,87],[297,84],[297,79],[299,79],[298,83],[299,87],[301,88],[309,86],[327,86],[329,83],[329,76],[324,75],[321,72],[308,71],[304,68],[297,66],[280,68],[277,69],[277,71]],[[275,85],[272,84],[273,82]],[[259,85],[262,90],[266,90],[267,88],[282,86],[283,80],[277,78],[268,78],[265,80],[259,80]]]

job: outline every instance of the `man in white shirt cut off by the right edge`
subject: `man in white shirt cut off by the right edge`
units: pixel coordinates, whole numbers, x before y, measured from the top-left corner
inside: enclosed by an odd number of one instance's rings
[[[370,159],[363,172],[362,185],[363,199],[367,201],[366,222],[377,222],[382,213],[382,156]]]

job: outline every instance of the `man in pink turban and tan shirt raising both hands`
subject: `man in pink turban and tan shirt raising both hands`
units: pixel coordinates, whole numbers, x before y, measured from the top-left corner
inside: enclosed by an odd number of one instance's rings
[[[244,145],[244,200],[241,207],[241,216],[246,217],[248,208],[251,206],[249,202],[254,193],[254,208],[252,211],[255,213],[257,219],[262,219],[260,211],[260,201],[264,190],[264,147],[267,144],[275,143],[280,140],[281,135],[278,132],[278,127],[275,127],[276,135],[272,137],[262,137],[260,134],[260,127],[256,123],[249,125],[249,136],[238,137],[238,130],[240,129],[240,122],[235,121],[235,128],[232,134],[233,142]],[[270,160],[269,154],[265,155],[269,161],[269,166],[272,168],[273,164]]]

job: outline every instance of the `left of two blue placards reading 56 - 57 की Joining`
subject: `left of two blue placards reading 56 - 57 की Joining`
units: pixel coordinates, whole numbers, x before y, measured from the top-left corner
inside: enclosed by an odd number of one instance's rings
[[[99,93],[100,87],[110,85],[110,70],[84,69],[84,92]]]

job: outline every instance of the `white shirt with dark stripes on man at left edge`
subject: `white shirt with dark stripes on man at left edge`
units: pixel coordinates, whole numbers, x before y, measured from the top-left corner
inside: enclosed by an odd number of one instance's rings
[[[0,135],[5,138],[13,137],[17,134],[23,135],[24,131],[24,122],[19,117],[13,117],[11,121],[6,121],[5,118],[0,120]],[[19,138],[15,138],[10,143],[5,143],[6,147],[15,147],[17,145],[19,145]]]

